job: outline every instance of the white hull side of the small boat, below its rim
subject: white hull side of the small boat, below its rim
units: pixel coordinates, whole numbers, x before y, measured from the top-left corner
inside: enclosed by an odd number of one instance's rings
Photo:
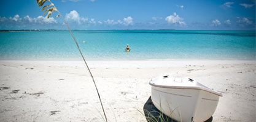
[[[152,86],[152,102],[158,110],[177,121],[202,122],[212,117],[219,96],[193,88]]]

